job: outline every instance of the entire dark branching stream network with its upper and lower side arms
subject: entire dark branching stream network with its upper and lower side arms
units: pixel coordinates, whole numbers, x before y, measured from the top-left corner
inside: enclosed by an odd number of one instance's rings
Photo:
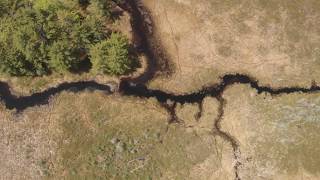
[[[116,2],[116,1],[115,1]],[[234,165],[235,179],[240,179],[239,177],[239,167],[240,162],[240,146],[236,138],[232,137],[230,134],[224,132],[221,129],[220,123],[224,116],[224,107],[226,101],[223,99],[223,92],[227,87],[234,84],[248,84],[251,88],[255,89],[258,93],[269,93],[271,95],[281,95],[290,93],[315,93],[320,92],[319,86],[311,86],[310,88],[300,88],[300,87],[284,87],[284,88],[272,88],[268,86],[260,86],[258,81],[253,77],[242,74],[227,74],[221,77],[221,81],[218,84],[204,87],[203,89],[192,92],[188,94],[173,94],[161,90],[149,89],[145,84],[150,79],[154,77],[157,69],[157,58],[164,54],[163,52],[156,52],[152,44],[150,44],[150,33],[148,32],[148,26],[146,24],[145,15],[146,12],[141,12],[139,4],[135,0],[127,0],[124,3],[118,4],[123,10],[127,11],[131,15],[131,25],[133,27],[133,33],[136,38],[139,39],[138,51],[141,51],[148,59],[148,68],[146,72],[138,78],[134,79],[123,79],[119,84],[119,89],[113,92],[112,87],[108,84],[99,84],[95,81],[79,81],[62,83],[57,87],[48,88],[39,93],[34,93],[29,96],[15,96],[11,93],[10,87],[5,82],[0,82],[0,100],[5,104],[8,109],[16,109],[17,112],[22,112],[28,107],[44,105],[49,103],[49,99],[62,92],[62,91],[73,91],[80,92],[85,89],[89,90],[100,90],[106,94],[120,93],[123,96],[135,96],[139,98],[156,98],[157,101],[166,108],[170,114],[169,122],[177,122],[177,116],[175,114],[175,105],[177,103],[197,103],[199,105],[199,117],[202,111],[202,102],[205,97],[216,98],[219,103],[219,114],[214,120],[214,127],[212,128],[213,134],[218,135],[228,141],[234,153],[234,159],[236,161]],[[150,17],[148,17],[150,18]],[[169,105],[167,102],[173,102],[173,105]]]

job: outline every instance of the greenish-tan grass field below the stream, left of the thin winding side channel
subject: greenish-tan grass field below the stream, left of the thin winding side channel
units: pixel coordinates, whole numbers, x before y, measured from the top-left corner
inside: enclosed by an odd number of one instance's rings
[[[99,92],[63,92],[19,115],[1,108],[0,179],[232,178],[231,148],[210,133],[215,104],[188,128],[168,125],[153,99]]]

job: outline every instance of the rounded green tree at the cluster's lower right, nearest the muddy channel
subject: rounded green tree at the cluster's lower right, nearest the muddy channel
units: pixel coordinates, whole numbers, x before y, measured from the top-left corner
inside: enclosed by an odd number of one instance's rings
[[[121,75],[133,68],[129,57],[128,40],[119,33],[112,33],[110,38],[90,48],[90,59],[95,73]]]

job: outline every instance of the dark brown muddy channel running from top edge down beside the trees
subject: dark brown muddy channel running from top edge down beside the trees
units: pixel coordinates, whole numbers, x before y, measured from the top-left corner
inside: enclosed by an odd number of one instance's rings
[[[159,71],[170,74],[173,69],[172,64],[170,65],[165,49],[154,36],[154,24],[148,10],[135,0],[113,0],[113,2],[130,14],[134,47],[139,54],[147,58],[144,73],[135,78],[130,77],[130,81],[145,84]]]

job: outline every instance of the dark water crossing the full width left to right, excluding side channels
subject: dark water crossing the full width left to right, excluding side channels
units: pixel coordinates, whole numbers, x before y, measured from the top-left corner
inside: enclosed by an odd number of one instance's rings
[[[143,84],[134,84],[123,80],[119,86],[119,92],[124,96],[136,96],[140,98],[156,98],[160,103],[166,103],[168,100],[175,103],[201,103],[207,96],[221,97],[224,90],[233,84],[248,84],[258,93],[269,93],[271,95],[289,94],[295,92],[312,93],[320,91],[319,86],[310,88],[285,87],[273,89],[267,86],[259,86],[258,81],[241,74],[229,74],[221,78],[221,82],[217,85],[205,87],[202,90],[190,94],[176,95],[161,90],[149,89]],[[7,83],[0,82],[0,98],[8,109],[17,109],[22,111],[27,107],[48,104],[51,96],[54,96],[62,91],[80,92],[84,90],[100,90],[108,94],[111,92],[111,87],[107,84],[99,84],[95,81],[79,81],[62,83],[57,87],[49,88],[43,92],[34,93],[30,96],[17,97],[10,91]]]

